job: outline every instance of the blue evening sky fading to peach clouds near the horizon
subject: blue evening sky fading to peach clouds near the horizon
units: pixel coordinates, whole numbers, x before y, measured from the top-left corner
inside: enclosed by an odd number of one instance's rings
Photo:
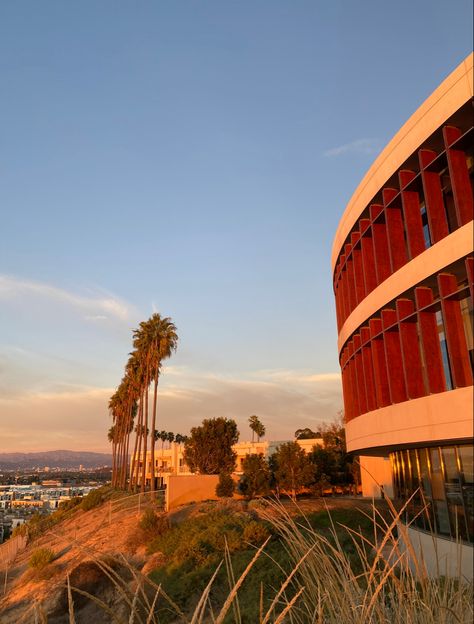
[[[0,3],[0,452],[107,451],[154,311],[159,429],[333,420],[338,221],[471,26],[470,0]]]

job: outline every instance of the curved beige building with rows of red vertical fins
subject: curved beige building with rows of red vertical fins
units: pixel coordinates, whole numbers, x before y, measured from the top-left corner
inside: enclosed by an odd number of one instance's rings
[[[412,537],[471,576],[472,104],[471,55],[375,160],[332,253],[348,449],[386,459]]]

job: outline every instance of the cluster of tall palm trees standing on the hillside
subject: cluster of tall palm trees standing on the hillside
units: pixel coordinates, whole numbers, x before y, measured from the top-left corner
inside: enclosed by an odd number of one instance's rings
[[[133,332],[133,351],[122,381],[109,400],[113,418],[108,434],[112,443],[113,487],[133,490],[140,485],[141,491],[145,490],[147,451],[150,449],[151,466],[155,466],[155,444],[165,433],[156,431],[158,381],[163,362],[177,346],[176,326],[170,318],[158,313],[142,321]],[[129,461],[133,433],[133,453]],[[171,441],[169,437],[167,440]],[[151,490],[155,488],[152,478]]]

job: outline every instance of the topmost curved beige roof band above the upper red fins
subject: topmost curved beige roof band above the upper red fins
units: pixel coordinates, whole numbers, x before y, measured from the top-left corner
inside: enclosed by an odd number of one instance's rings
[[[373,197],[405,160],[473,96],[473,58],[470,54],[423,102],[365,174],[339,222],[332,247],[333,272],[341,247]]]

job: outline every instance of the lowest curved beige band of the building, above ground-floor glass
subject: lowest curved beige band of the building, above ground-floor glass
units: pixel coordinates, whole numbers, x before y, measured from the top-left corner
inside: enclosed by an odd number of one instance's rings
[[[348,451],[472,438],[473,387],[367,412],[346,424]]]

